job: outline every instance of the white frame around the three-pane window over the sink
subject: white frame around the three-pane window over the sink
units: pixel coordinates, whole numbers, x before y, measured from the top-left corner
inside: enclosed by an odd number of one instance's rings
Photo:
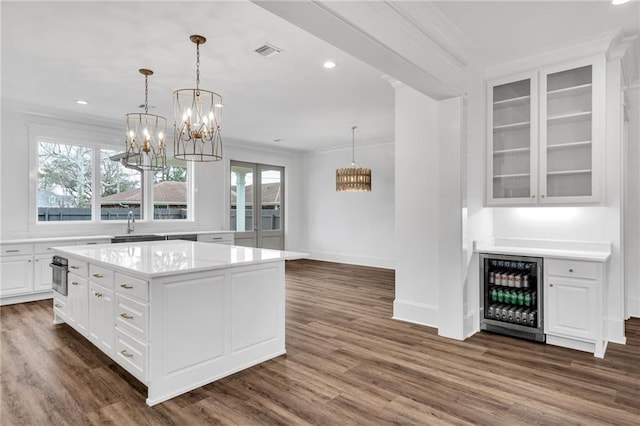
[[[28,139],[29,139],[29,224],[35,227],[51,227],[51,226],[87,226],[96,224],[121,224],[126,219],[102,220],[101,218],[101,151],[123,151],[120,146],[120,137],[114,136],[115,132],[111,129],[103,128],[104,131],[89,132],[78,129],[62,128],[55,126],[47,126],[41,124],[27,123]],[[65,145],[82,146],[91,149],[91,220],[67,220],[67,221],[39,221],[38,220],[38,154],[39,143],[50,142]],[[187,217],[185,219],[154,219],[153,208],[153,171],[142,171],[141,187],[142,187],[142,218],[141,223],[186,223],[194,221],[194,167],[191,162],[186,162],[187,169]]]

